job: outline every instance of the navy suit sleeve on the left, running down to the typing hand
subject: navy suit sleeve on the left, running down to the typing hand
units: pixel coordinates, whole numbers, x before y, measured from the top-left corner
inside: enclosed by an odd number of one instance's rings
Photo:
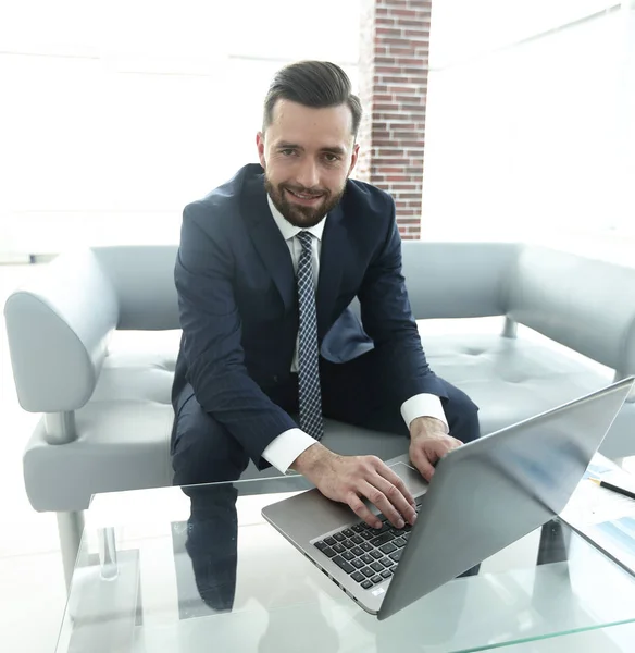
[[[196,204],[185,208],[174,274],[187,380],[203,410],[262,468],[264,448],[297,424],[245,367],[233,287],[236,261],[227,233],[210,220],[209,212]]]

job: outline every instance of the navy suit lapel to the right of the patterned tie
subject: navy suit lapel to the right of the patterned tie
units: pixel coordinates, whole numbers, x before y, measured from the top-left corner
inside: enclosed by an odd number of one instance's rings
[[[347,252],[347,231],[344,226],[341,204],[326,219],[320,254],[320,278],[318,281],[318,336],[324,337],[331,326],[331,316],[339,294],[341,273]]]

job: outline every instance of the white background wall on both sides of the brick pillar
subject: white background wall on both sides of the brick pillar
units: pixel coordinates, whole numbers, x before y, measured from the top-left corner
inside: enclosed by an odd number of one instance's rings
[[[434,3],[423,237],[633,231],[633,11],[487,54],[608,4]],[[176,242],[183,206],[256,160],[278,67],[357,83],[359,5],[0,0],[0,259]]]

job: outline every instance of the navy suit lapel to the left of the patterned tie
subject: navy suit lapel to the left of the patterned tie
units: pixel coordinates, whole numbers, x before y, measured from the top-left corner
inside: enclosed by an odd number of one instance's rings
[[[288,309],[296,301],[296,275],[289,248],[266,201],[264,176],[247,180],[241,210],[251,225],[249,235]]]

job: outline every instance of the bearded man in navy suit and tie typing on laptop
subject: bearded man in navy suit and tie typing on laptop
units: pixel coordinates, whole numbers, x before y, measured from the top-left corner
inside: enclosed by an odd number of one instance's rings
[[[426,362],[391,197],[349,180],[360,118],[338,66],[283,69],[265,99],[260,165],[185,208],[174,481],[234,480],[251,458],[304,475],[378,527],[366,498],[401,528],[415,520],[401,480],[374,456],[319,443],[323,416],[410,436],[429,479],[478,436],[477,408]],[[348,309],[356,296],[363,329]]]

